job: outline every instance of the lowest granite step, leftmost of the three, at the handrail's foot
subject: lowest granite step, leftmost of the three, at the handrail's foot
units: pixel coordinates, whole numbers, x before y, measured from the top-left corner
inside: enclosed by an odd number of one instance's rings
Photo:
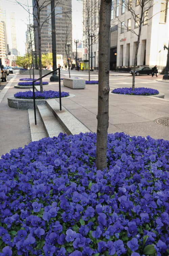
[[[36,111],[36,118],[37,118],[36,125],[35,125],[35,121],[34,121],[34,109],[28,109],[28,115],[29,115],[31,140],[37,141],[37,140],[47,137],[38,111]]]

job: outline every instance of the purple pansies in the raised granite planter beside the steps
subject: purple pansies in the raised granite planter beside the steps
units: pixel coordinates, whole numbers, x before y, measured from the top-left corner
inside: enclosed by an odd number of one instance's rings
[[[59,98],[59,91],[35,91],[35,99],[53,99],[53,98]],[[69,92],[61,91],[61,97],[68,97]],[[14,94],[15,98],[18,99],[33,99],[33,91],[19,91]]]

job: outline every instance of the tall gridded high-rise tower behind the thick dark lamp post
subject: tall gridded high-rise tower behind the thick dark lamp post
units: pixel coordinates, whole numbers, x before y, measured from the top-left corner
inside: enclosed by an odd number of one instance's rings
[[[52,52],[52,28],[51,28],[51,1],[43,6],[44,0],[39,1],[40,6],[40,28],[41,28],[41,53],[47,54]],[[72,57],[72,0],[58,0],[55,3],[55,33],[56,33],[56,53],[63,55],[64,62],[67,62],[65,47]],[[33,5],[33,22],[35,26],[35,46],[38,53],[38,30],[37,30],[37,1],[32,0]],[[43,6],[43,8],[42,8]]]

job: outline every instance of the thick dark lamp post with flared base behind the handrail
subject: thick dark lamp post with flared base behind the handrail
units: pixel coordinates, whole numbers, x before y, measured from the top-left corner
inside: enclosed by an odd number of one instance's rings
[[[53,70],[57,68],[56,63],[56,30],[55,30],[55,10],[54,10],[54,0],[51,0],[51,25],[52,25],[52,61],[53,61]],[[58,82],[59,77],[57,70],[54,71],[50,77],[50,82]]]

